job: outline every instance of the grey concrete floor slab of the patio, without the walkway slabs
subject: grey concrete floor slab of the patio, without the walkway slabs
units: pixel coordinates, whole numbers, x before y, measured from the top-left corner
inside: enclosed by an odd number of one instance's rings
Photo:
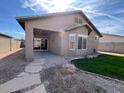
[[[34,58],[34,62],[43,62],[44,69],[68,63],[64,57],[49,51],[34,51]]]

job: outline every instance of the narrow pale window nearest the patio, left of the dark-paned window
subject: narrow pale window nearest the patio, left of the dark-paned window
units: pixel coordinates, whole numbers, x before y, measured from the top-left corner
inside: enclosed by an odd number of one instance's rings
[[[76,34],[70,34],[69,35],[69,49],[70,50],[75,49],[75,43],[76,43]]]

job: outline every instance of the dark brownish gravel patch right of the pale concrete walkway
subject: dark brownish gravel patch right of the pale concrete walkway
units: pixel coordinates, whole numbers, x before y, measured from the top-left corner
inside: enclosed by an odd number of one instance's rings
[[[106,93],[101,87],[78,79],[74,74],[62,73],[61,67],[43,70],[40,75],[49,93]]]

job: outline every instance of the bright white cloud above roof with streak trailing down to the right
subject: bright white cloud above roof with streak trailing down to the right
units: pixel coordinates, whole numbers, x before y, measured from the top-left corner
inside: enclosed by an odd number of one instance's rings
[[[74,3],[76,4],[78,2],[77,0],[24,0],[22,7],[30,8],[35,12],[42,11],[42,10],[46,10],[48,12],[61,12],[61,11],[66,11],[68,9],[83,10],[85,13],[91,13],[91,14],[95,14],[99,16],[104,15],[111,19],[124,23],[124,21],[118,17],[114,17],[112,15],[102,13],[102,12],[97,12],[98,7],[104,4],[102,0],[100,1],[99,0],[94,0],[94,1],[84,0],[82,1],[83,6],[79,8],[78,6],[74,5]]]

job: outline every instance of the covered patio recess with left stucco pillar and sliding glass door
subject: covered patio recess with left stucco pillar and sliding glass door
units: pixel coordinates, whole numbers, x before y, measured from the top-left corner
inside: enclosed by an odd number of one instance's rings
[[[27,61],[36,58],[35,55],[49,51],[60,55],[61,34],[58,31],[34,28],[33,31],[26,31],[25,57]],[[35,53],[35,54],[34,54]],[[37,54],[36,54],[37,53]],[[41,56],[40,56],[41,57]]]

